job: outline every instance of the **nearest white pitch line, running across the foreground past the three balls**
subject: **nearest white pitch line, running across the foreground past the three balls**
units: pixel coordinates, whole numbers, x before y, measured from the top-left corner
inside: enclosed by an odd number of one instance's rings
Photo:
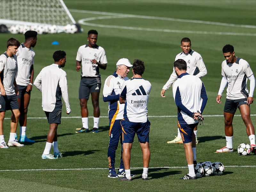
[[[256,167],[256,165],[231,165],[225,167]],[[176,169],[176,168],[188,168],[188,167],[149,167],[149,169]],[[68,170],[104,170],[108,168],[77,168],[77,169],[16,169],[16,170],[0,170],[1,171],[68,171]],[[131,169],[143,169],[143,167],[133,167]]]

